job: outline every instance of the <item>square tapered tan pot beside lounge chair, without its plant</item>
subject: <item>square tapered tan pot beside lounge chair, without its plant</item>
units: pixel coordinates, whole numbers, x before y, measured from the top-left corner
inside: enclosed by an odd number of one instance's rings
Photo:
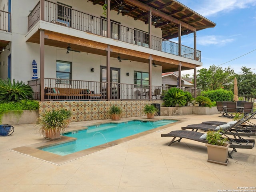
[[[228,148],[230,144],[226,146],[218,146],[205,144],[207,146],[208,162],[217,163],[221,165],[228,164]]]

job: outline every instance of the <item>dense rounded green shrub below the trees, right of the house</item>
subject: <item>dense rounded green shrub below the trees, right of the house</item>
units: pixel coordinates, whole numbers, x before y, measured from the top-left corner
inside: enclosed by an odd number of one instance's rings
[[[210,98],[211,101],[232,101],[234,97],[232,91],[223,89],[203,91],[201,95]]]

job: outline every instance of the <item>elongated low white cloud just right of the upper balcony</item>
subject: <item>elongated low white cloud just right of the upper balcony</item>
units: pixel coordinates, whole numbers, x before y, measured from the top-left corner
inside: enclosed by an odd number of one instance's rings
[[[234,39],[225,36],[208,35],[197,38],[197,43],[203,46],[219,45],[224,46],[227,43],[233,42]]]

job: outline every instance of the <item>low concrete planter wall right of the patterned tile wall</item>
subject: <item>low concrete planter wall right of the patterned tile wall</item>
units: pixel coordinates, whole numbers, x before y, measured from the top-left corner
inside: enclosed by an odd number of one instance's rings
[[[160,115],[162,116],[175,116],[175,115],[210,115],[218,114],[217,107],[199,107],[199,106],[186,106],[186,107],[160,107]]]

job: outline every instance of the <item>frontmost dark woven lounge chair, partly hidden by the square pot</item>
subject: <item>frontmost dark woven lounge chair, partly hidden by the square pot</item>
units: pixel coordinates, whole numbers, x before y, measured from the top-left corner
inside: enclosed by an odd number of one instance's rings
[[[238,138],[229,138],[226,133],[232,132],[232,128],[237,126],[240,123],[240,121],[236,122],[229,128],[224,130],[223,135],[228,138],[228,142],[230,143],[230,148],[233,148],[231,152],[228,153],[228,156],[232,158],[231,154],[232,152],[237,152],[236,148],[243,148],[243,149],[252,149],[255,144],[254,139],[244,139],[241,138],[240,136],[236,135]],[[235,133],[232,133],[235,134]],[[195,132],[195,131],[188,131],[188,130],[176,130],[176,131],[171,131],[170,133],[167,134],[161,134],[161,137],[173,137],[171,142],[168,144],[168,146],[171,146],[174,142],[180,142],[182,138],[185,139],[190,139],[202,143],[207,143],[208,141],[206,140],[206,134],[201,133],[201,132]],[[176,138],[179,138],[175,140]]]

